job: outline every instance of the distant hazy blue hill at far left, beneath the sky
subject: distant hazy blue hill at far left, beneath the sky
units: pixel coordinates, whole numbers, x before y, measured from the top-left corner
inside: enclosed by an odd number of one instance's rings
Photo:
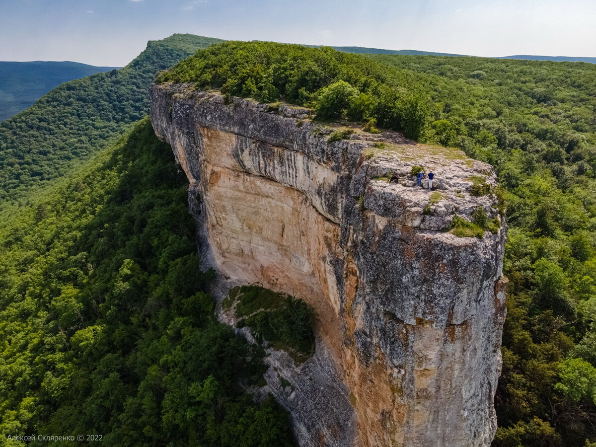
[[[70,61],[0,62],[0,122],[33,105],[63,82],[117,68]]]

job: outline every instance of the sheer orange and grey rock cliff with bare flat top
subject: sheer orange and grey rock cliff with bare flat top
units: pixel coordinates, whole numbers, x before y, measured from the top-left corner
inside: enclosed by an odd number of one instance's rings
[[[151,95],[153,127],[188,176],[213,266],[315,308],[319,359],[333,359],[328,376],[344,384],[334,392],[353,409],[331,422],[294,418],[300,443],[489,445],[505,224],[482,239],[443,230],[479,206],[500,221],[493,195],[470,195],[473,179],[495,185],[491,166],[390,132],[328,142],[328,129],[288,105],[225,104],[184,85]],[[414,165],[434,170],[437,192],[413,185]],[[378,179],[394,171],[398,184]],[[294,415],[309,405],[302,391],[278,396]]]

